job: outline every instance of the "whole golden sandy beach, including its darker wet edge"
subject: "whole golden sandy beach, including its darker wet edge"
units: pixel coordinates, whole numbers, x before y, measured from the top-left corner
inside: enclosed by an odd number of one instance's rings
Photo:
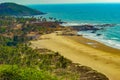
[[[59,52],[74,63],[105,74],[110,80],[120,80],[120,50],[82,36],[57,36],[56,33],[42,35],[31,43],[33,48]]]

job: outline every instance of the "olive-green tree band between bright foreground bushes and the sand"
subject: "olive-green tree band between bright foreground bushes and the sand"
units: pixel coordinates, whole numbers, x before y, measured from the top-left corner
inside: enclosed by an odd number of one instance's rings
[[[65,78],[69,80],[76,80],[76,78],[80,77],[79,73],[77,74],[77,72],[73,72],[69,68],[69,66],[72,64],[71,61],[65,59],[63,56],[59,55],[58,53],[52,52],[47,49],[33,50],[32,48],[28,47],[28,44],[21,44],[17,46],[1,45],[0,64],[9,65],[9,66],[16,65],[19,68],[22,69],[25,68],[25,70],[28,70],[30,68],[36,72],[42,70],[49,74],[51,73],[51,76],[53,75],[52,77],[57,76],[58,79],[60,80],[64,80]],[[15,73],[17,72],[15,71]],[[26,75],[26,76],[30,76],[30,75]],[[43,74],[43,76],[45,75]],[[37,79],[31,79],[31,80],[37,80]],[[50,79],[50,80],[54,80],[54,79]]]

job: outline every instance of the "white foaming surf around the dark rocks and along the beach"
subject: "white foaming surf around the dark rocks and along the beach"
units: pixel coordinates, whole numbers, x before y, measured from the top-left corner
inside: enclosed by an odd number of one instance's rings
[[[113,39],[105,39],[106,36],[104,36],[104,34],[102,33],[96,33],[97,30],[102,30],[103,28],[105,27],[116,27],[116,26],[119,26],[119,24],[112,24],[112,23],[101,23],[101,24],[90,24],[90,23],[63,23],[61,24],[62,26],[64,27],[72,27],[73,29],[75,29],[77,31],[77,35],[82,35],[84,38],[87,38],[87,39],[90,39],[90,40],[95,40],[97,42],[100,42],[106,46],[109,46],[109,47],[112,47],[112,48],[115,48],[115,49],[119,49],[120,50],[120,42],[117,41],[117,37],[113,37]],[[87,27],[86,27],[87,25]],[[95,33],[92,33],[92,32],[87,32],[85,30],[81,30],[83,28],[80,28],[80,27],[86,27],[86,30],[88,30],[89,28],[91,28],[90,30],[91,31],[96,31]],[[91,26],[91,27],[90,27]],[[98,26],[98,27],[95,27],[95,26]],[[101,26],[101,29],[99,28]],[[78,28],[77,28],[78,27]],[[92,29],[93,28],[93,29]],[[79,31],[80,30],[80,31]],[[85,32],[84,32],[85,31]],[[89,30],[88,30],[89,31]],[[97,34],[99,36],[97,36]],[[105,37],[105,38],[104,38]]]

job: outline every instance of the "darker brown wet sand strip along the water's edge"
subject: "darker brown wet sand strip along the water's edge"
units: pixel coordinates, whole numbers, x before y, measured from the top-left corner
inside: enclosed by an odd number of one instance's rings
[[[102,51],[109,52],[109,53],[115,53],[116,55],[120,55],[120,49],[108,46],[100,41],[86,38],[83,36],[79,36],[79,37],[78,36],[67,36],[67,37],[79,42],[80,44],[89,46],[91,48],[102,50]]]

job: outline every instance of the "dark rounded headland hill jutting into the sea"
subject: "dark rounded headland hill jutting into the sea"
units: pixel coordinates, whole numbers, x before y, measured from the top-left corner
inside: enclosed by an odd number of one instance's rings
[[[41,14],[44,13],[16,3],[0,4],[0,15],[2,16],[31,16]]]

